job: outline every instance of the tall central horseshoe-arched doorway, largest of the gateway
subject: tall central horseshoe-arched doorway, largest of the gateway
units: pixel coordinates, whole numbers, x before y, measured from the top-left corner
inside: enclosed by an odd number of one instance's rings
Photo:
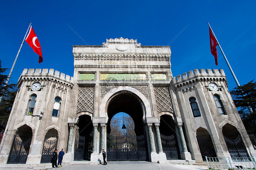
[[[111,130],[113,116],[124,112],[128,119],[134,123],[133,130]],[[128,116],[129,115],[129,116]],[[123,123],[123,117],[119,120]],[[108,160],[148,160],[148,148],[143,122],[143,108],[138,96],[123,92],[112,98],[108,105],[107,123],[107,157]]]

